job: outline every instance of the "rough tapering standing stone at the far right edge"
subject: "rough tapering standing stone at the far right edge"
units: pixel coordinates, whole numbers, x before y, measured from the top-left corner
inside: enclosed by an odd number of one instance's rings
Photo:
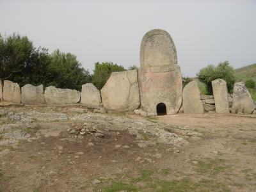
[[[243,82],[235,83],[233,90],[232,113],[253,113],[256,104]]]

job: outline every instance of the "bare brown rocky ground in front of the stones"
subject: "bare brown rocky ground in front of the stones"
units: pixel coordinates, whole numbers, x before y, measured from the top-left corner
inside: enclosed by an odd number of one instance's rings
[[[256,116],[84,112],[0,108],[0,191],[256,191]]]

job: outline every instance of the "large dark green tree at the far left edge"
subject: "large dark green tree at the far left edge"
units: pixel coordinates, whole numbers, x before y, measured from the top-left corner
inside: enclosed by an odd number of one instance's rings
[[[0,35],[0,79],[20,86],[44,83],[48,65],[47,49],[34,47],[27,36]]]

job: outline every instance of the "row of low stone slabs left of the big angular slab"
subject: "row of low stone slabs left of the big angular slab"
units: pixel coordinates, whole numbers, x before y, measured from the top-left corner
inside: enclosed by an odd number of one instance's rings
[[[87,106],[100,106],[100,92],[92,83],[82,86],[82,93],[77,90],[60,89],[54,86],[45,88],[41,84],[33,86],[26,84],[20,86],[12,81],[5,80],[4,84],[0,81],[0,100],[23,104],[76,104],[80,102]]]

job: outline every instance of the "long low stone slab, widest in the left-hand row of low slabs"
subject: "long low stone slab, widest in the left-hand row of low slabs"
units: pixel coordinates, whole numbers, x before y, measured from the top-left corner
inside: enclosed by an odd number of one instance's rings
[[[75,104],[80,101],[77,90],[60,89],[54,86],[45,88],[44,99],[47,104]]]

